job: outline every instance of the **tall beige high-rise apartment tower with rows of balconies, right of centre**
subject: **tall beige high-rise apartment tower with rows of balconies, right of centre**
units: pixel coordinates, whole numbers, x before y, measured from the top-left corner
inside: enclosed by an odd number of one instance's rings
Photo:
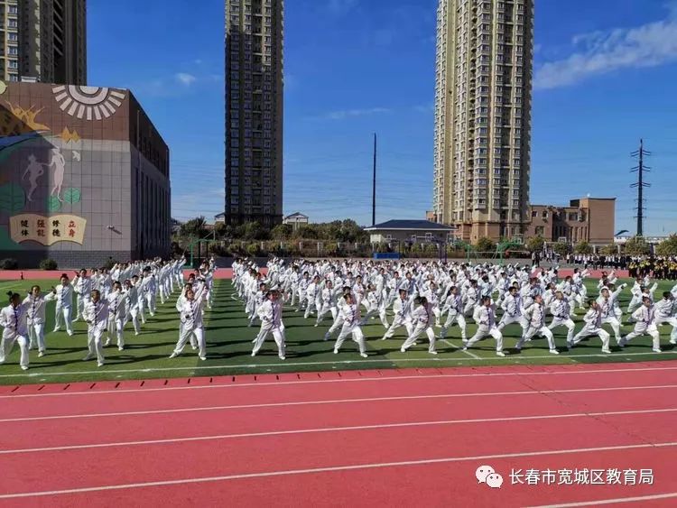
[[[471,242],[528,222],[533,0],[440,0],[433,210]]]

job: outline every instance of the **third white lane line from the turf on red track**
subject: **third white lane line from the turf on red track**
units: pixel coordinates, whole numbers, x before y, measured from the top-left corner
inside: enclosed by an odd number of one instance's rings
[[[189,438],[172,439],[149,439],[142,441],[118,441],[111,443],[94,443],[87,445],[70,445],[47,448],[17,448],[0,450],[0,455],[20,454],[20,453],[39,453],[50,451],[65,451],[88,448],[113,448],[113,447],[133,447],[144,445],[164,445],[172,443],[188,443],[195,441],[213,441],[218,439],[245,439],[245,438],[264,438],[268,436],[288,436],[297,434],[318,434],[323,432],[346,432],[350,430],[373,430],[373,429],[401,429],[407,427],[431,427],[435,425],[456,425],[464,423],[492,423],[505,421],[527,421],[527,420],[561,420],[568,418],[598,418],[601,416],[623,416],[635,414],[660,414],[666,412],[675,412],[677,408],[655,409],[655,410],[636,410],[636,411],[605,411],[605,412],[577,412],[566,414],[543,414],[529,416],[509,416],[502,418],[476,418],[466,420],[434,420],[434,421],[410,421],[403,423],[381,423],[374,425],[356,425],[349,427],[326,427],[320,429],[293,429],[293,430],[271,430],[267,432],[249,432],[245,434],[220,434],[216,436],[195,436]]]

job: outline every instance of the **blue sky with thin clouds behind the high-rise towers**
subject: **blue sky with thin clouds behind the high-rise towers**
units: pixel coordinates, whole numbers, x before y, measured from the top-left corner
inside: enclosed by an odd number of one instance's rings
[[[563,8],[566,5],[566,8]],[[284,211],[312,221],[423,217],[432,196],[436,0],[285,5]],[[119,21],[118,21],[119,20]],[[172,150],[172,214],[223,210],[223,2],[88,2],[89,84],[132,88]],[[617,197],[653,152],[645,233],[677,229],[677,4],[536,5],[531,201]]]

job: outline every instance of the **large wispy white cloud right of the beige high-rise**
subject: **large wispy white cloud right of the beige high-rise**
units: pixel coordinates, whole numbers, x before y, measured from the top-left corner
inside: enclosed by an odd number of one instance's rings
[[[677,18],[635,28],[576,35],[578,51],[535,69],[533,88],[561,88],[620,69],[655,67],[677,61]]]

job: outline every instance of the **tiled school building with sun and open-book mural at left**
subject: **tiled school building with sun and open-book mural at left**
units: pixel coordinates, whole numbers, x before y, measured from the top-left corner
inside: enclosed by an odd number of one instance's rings
[[[167,255],[170,152],[129,90],[0,81],[0,258]]]

